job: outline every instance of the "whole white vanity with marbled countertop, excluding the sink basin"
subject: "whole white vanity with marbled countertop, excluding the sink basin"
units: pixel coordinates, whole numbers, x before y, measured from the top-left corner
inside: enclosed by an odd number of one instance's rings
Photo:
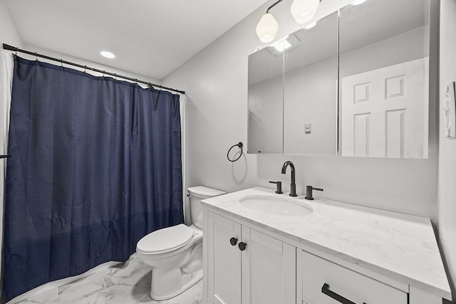
[[[442,304],[452,298],[429,219],[302,196],[296,204],[311,214],[261,214],[239,203],[261,196],[283,197],[254,187],[202,201],[204,303]]]

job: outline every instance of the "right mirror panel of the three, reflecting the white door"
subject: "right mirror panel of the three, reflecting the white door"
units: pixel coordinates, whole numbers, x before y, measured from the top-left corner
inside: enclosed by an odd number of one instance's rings
[[[427,158],[429,1],[341,9],[339,152]]]

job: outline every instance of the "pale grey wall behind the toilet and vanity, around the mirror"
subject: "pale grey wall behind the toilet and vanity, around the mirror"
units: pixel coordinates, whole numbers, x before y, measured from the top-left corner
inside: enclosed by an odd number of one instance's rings
[[[286,176],[280,173],[289,159],[296,166],[299,193],[311,184],[324,188],[321,197],[328,199],[435,219],[435,127],[431,128],[430,158],[423,160],[255,154],[244,154],[234,163],[227,160],[229,147],[247,140],[247,56],[261,45],[254,30],[273,2],[254,11],[163,80],[165,85],[187,91],[187,185],[234,192],[256,185],[273,188],[268,181],[281,180],[289,191],[289,172]],[[316,18],[349,2],[323,0]],[[277,38],[299,28],[290,16],[290,4],[284,1],[271,11],[280,25]],[[436,124],[436,117],[430,124]]]

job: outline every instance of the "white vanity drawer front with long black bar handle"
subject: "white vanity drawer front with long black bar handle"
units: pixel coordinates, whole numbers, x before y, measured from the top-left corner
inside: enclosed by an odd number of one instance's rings
[[[307,304],[407,304],[408,294],[348,268],[301,251],[298,273]],[[325,293],[323,293],[323,289]],[[326,294],[328,293],[328,294]],[[331,297],[332,295],[332,297]],[[335,300],[337,296],[348,300]],[[349,302],[351,301],[351,302]]]

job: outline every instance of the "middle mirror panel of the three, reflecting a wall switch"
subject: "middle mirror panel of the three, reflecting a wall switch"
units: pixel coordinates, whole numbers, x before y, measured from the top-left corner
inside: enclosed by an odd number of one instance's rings
[[[337,27],[335,12],[289,35],[301,43],[285,50],[285,154],[337,153]]]

